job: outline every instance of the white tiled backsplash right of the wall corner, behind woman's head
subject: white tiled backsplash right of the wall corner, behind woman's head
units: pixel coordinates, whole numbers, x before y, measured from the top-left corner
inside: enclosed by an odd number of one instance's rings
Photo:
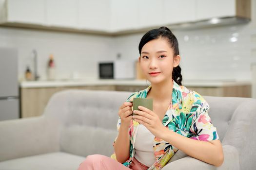
[[[250,24],[192,31],[173,30],[179,42],[183,78],[251,80],[250,65],[256,58],[251,52],[253,32]],[[115,37],[118,50],[113,50],[121,52],[126,58],[137,59],[142,35]],[[231,41],[232,37],[236,41]]]

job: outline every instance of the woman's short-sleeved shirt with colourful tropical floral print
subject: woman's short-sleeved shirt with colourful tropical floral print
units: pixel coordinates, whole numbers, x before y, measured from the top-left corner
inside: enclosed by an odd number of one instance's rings
[[[151,85],[146,89],[133,93],[126,102],[133,101],[133,98],[146,98]],[[196,91],[187,89],[185,86],[178,85],[173,80],[172,104],[169,105],[166,114],[162,120],[162,124],[180,134],[195,140],[210,141],[219,139],[217,129],[211,122],[208,115],[209,104]],[[119,132],[121,119],[118,119],[117,129]],[[129,126],[130,135],[130,158],[123,163],[129,167],[133,161],[138,131],[138,122],[131,120]],[[117,140],[117,137],[115,141]],[[114,143],[115,143],[114,141]],[[155,137],[154,138],[154,154],[156,157],[155,163],[148,170],[161,170],[167,162],[177,152],[177,148],[170,143]],[[113,153],[111,158],[116,159],[116,154]]]

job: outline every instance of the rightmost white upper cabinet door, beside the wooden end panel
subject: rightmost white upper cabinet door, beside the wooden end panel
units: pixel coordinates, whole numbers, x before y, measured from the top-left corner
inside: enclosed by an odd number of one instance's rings
[[[196,0],[196,19],[236,16],[236,0]]]

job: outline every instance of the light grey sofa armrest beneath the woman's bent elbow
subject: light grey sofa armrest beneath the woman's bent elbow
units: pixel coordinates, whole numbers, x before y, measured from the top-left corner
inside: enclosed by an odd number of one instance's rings
[[[224,162],[220,167],[200,161],[191,156],[185,156],[180,151],[182,158],[170,161],[162,170],[239,170],[239,153],[235,147],[230,145],[223,146]],[[175,153],[176,154],[176,153]]]

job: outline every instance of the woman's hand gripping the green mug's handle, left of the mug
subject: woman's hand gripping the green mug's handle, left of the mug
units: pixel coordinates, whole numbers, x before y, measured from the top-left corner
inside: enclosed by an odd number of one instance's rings
[[[132,102],[124,102],[118,111],[118,115],[121,119],[121,125],[124,125],[126,127],[129,127],[131,119],[133,119],[132,114]]]

